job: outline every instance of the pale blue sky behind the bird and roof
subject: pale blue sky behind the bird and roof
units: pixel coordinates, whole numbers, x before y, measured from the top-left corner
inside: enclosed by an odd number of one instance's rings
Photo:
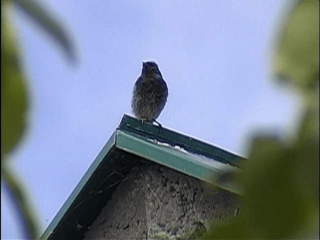
[[[16,12],[32,101],[12,167],[27,186],[41,231],[130,113],[144,59],[155,59],[168,85],[158,118],[165,127],[242,155],[254,129],[294,129],[298,101],[274,84],[270,71],[286,1],[43,3],[75,39],[80,63],[67,64],[55,42]],[[22,237],[15,217],[1,190],[1,238]]]

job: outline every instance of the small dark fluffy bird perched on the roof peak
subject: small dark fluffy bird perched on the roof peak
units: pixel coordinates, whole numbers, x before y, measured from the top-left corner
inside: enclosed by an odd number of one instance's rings
[[[157,122],[168,97],[168,87],[154,60],[142,61],[141,75],[136,79],[131,100],[133,114],[143,121]],[[161,124],[157,122],[159,126]]]

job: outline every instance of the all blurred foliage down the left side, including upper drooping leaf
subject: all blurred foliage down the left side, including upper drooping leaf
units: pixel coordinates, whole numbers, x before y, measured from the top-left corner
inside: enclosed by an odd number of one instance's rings
[[[38,237],[37,222],[18,177],[9,168],[10,153],[27,130],[28,87],[22,67],[17,32],[10,22],[12,7],[18,6],[27,17],[48,32],[64,49],[69,59],[76,59],[72,41],[63,26],[34,0],[1,0],[1,178],[20,216],[27,238]]]

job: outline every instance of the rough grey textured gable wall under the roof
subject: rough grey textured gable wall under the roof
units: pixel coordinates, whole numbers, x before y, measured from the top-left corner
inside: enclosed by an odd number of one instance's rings
[[[132,167],[83,239],[191,239],[237,212],[236,195],[148,162]]]

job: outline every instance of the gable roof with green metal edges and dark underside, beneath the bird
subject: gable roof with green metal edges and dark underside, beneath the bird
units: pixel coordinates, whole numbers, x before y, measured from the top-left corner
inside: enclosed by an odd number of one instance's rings
[[[41,239],[81,238],[130,168],[149,160],[197,179],[240,193],[231,182],[220,181],[238,171],[245,158],[193,137],[123,115],[88,170],[73,189]]]

